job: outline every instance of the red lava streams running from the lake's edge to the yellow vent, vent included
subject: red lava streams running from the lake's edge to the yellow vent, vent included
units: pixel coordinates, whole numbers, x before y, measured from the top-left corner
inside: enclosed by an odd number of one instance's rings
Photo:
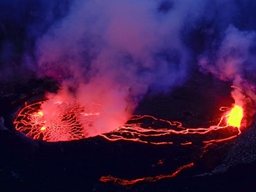
[[[141,143],[150,143],[153,145],[167,145],[175,143],[177,140],[174,137],[182,135],[179,141],[183,141],[181,145],[191,145],[193,142],[189,141],[185,135],[198,135],[201,137],[203,143],[221,142],[228,139],[233,139],[241,133],[241,120],[243,119],[243,109],[238,105],[235,105],[228,113],[225,113],[221,117],[221,120],[217,125],[211,127],[197,127],[197,128],[185,128],[179,121],[167,121],[163,119],[157,119],[150,115],[134,115],[127,125],[115,129],[111,133],[101,134],[102,137],[109,141],[135,141]],[[145,122],[145,123],[142,123]],[[157,127],[157,126],[161,127]],[[225,135],[221,134],[223,131],[228,131]],[[217,139],[206,139],[207,133],[218,133],[215,135]],[[230,134],[229,134],[230,133]],[[212,134],[211,134],[212,135]]]

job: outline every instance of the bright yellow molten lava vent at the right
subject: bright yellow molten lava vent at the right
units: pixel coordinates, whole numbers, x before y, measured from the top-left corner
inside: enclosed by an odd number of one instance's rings
[[[243,109],[239,105],[235,105],[227,114],[227,125],[240,128],[242,119]]]

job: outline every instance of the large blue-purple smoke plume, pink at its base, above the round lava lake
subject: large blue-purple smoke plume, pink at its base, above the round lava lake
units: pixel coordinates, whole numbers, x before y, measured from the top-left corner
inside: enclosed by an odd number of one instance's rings
[[[169,91],[184,81],[189,51],[179,38],[183,25],[172,20],[186,10],[178,4],[174,13],[157,15],[158,4],[76,1],[37,42],[39,74],[61,83],[51,99],[101,105],[90,136],[123,125],[149,89]]]

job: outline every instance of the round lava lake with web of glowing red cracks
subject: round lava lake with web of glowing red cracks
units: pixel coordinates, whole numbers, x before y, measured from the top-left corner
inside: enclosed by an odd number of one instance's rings
[[[88,137],[87,129],[99,111],[96,103],[83,107],[77,101],[41,101],[21,109],[13,123],[17,131],[33,139],[71,141]]]

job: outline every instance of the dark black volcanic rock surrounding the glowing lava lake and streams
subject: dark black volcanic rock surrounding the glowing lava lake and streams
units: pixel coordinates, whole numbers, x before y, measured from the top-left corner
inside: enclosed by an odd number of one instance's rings
[[[109,142],[102,137],[46,143],[17,133],[12,121],[19,107],[27,99],[43,97],[45,87],[51,85],[55,86],[51,81],[37,81],[28,83],[27,87],[24,85],[17,92],[9,89],[1,93],[1,116],[5,118],[1,127],[9,129],[0,131],[1,191],[249,191],[244,185],[253,186],[255,182],[255,124],[231,142],[212,145],[201,158],[197,138],[192,138],[195,141],[192,147],[181,147]],[[211,87],[206,89],[206,85]],[[232,103],[228,87],[213,77],[195,75],[173,93],[148,95],[136,113],[179,120],[185,126],[206,127],[216,123],[212,119],[217,116],[219,107]],[[195,166],[173,179],[141,182],[129,187],[99,181],[103,175],[137,179],[170,174],[191,161]]]

